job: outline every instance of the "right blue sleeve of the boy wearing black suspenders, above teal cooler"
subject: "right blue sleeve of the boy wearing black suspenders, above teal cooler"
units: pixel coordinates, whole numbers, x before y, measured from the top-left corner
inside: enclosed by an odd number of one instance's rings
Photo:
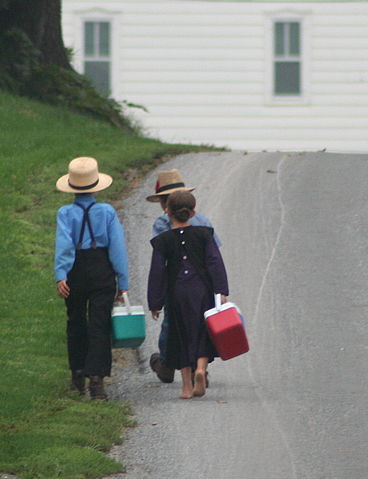
[[[129,289],[128,282],[128,253],[125,244],[123,225],[120,223],[115,210],[108,224],[109,259],[118,278],[119,289]]]

